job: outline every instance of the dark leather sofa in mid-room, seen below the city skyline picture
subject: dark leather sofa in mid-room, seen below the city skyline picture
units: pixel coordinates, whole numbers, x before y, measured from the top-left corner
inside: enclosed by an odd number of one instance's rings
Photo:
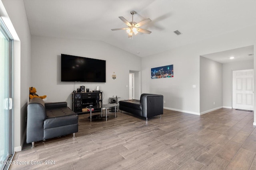
[[[164,96],[160,94],[142,94],[140,100],[121,100],[119,109],[146,118],[161,115],[164,112]]]

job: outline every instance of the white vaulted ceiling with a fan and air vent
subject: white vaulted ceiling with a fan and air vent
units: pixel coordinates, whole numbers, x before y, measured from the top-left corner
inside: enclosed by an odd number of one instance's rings
[[[145,57],[256,23],[255,0],[24,0],[31,35],[104,41]],[[128,38],[118,17],[152,21]],[[179,30],[182,35],[173,31]]]

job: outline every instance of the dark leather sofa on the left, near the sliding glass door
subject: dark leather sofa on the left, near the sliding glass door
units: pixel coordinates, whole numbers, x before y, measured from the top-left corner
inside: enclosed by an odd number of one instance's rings
[[[44,103],[33,98],[28,104],[27,143],[42,141],[78,132],[78,115],[66,102]]]

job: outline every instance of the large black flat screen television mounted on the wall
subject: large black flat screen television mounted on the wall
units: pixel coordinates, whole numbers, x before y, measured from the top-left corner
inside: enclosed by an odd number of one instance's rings
[[[62,82],[106,82],[106,61],[61,54]]]

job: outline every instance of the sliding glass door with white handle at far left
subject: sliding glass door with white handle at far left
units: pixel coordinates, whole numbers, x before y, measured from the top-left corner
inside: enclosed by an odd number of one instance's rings
[[[0,169],[12,154],[12,39],[0,18]]]

